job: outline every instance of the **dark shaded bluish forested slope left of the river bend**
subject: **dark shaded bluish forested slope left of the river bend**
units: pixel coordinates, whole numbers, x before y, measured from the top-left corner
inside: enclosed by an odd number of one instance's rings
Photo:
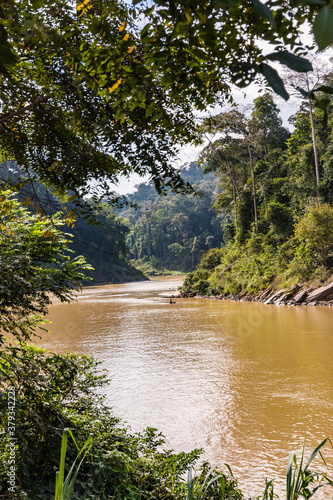
[[[62,230],[68,233],[69,251],[73,255],[82,255],[91,264],[93,270],[86,270],[87,278],[84,284],[123,283],[146,279],[141,271],[133,267],[127,259],[128,247],[126,237],[129,228],[107,203],[96,202],[94,199],[81,200],[78,206],[71,198],[62,199],[35,180],[26,184],[25,175],[15,162],[7,161],[0,164],[1,177],[10,178],[13,182],[22,182],[17,199],[32,213],[41,218],[52,217],[61,213]]]

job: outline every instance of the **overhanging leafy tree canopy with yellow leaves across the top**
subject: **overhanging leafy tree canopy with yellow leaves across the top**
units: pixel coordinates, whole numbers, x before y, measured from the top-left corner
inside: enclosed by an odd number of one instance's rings
[[[318,10],[292,1],[270,10],[259,0],[159,0],[148,10],[116,0],[0,6],[2,151],[30,177],[77,196],[91,179],[110,193],[108,181],[132,172],[148,173],[159,192],[188,191],[172,158],[177,145],[198,140],[195,108],[224,101],[231,81],[242,87],[259,74],[287,98],[269,61],[311,69],[287,48],[302,50],[299,28]],[[257,39],[277,50],[264,56]]]

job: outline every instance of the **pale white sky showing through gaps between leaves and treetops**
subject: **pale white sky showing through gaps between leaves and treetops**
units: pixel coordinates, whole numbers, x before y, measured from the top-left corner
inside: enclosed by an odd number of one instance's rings
[[[310,30],[307,30],[307,32],[303,34],[302,41],[304,45],[306,44],[308,46],[310,46],[313,43],[313,35],[310,34]],[[267,52],[271,52],[271,50],[268,49]],[[333,47],[320,54],[314,53],[314,56],[320,59],[324,59],[328,62],[329,58],[333,57]],[[273,63],[271,64],[272,66],[274,66]],[[277,71],[281,75],[281,66],[278,65],[275,66]],[[239,89],[237,87],[233,87],[232,95],[235,102],[239,104],[241,107],[247,107],[247,106],[250,107],[254,99],[256,99],[261,92],[263,92],[263,87],[259,86],[258,84],[251,84],[245,89]],[[274,100],[276,105],[280,109],[280,116],[282,118],[283,125],[286,128],[289,128],[289,130],[291,130],[292,127],[288,123],[288,118],[297,112],[301,101],[296,97],[292,96],[289,98],[288,101],[284,101],[279,96],[276,96]],[[206,116],[208,114],[211,114],[213,116],[226,110],[227,108],[223,109],[221,107],[215,107],[210,110],[207,110],[207,112],[204,114]],[[202,146],[198,148],[195,148],[194,146],[191,145],[183,147],[180,151],[178,160],[174,162],[174,166],[181,167],[186,163],[189,163],[191,161],[196,161],[201,149]],[[148,176],[140,177],[138,174],[132,174],[129,178],[125,177],[120,178],[119,183],[117,185],[112,186],[112,188],[120,195],[126,195],[135,191],[136,185],[142,182],[147,182],[148,180],[149,180]]]

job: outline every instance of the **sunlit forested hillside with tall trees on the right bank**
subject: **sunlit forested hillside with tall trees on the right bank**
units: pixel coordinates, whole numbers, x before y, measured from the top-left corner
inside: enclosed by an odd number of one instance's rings
[[[327,77],[329,80],[329,77]],[[333,272],[333,119],[304,99],[282,127],[269,94],[207,120],[200,163],[216,172],[219,212],[232,217],[221,248],[210,249],[183,291],[239,295],[320,286]],[[313,116],[313,122],[312,117]],[[327,118],[327,121],[326,121]]]

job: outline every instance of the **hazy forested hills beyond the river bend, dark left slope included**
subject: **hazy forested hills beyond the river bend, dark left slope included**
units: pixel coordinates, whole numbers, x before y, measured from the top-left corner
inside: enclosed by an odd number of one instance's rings
[[[0,174],[14,182],[25,180],[14,162],[2,163]],[[212,208],[220,192],[215,175],[204,175],[195,163],[183,166],[181,175],[198,194],[168,191],[161,197],[153,183],[142,183],[117,211],[94,197],[80,200],[78,210],[73,195],[53,195],[37,181],[25,184],[16,197],[31,213],[61,213],[63,230],[70,235],[68,248],[93,268],[86,271],[92,281],[85,284],[136,281],[149,274],[194,270],[207,249],[223,243],[225,213]]]

